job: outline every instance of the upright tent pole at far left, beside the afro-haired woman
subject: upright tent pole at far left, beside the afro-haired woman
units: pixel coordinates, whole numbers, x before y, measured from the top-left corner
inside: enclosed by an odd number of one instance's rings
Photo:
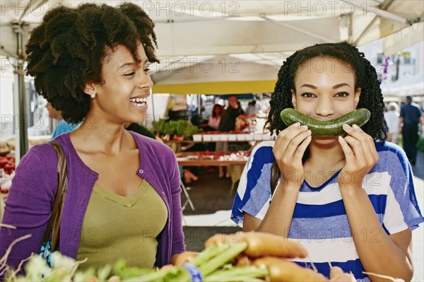
[[[28,129],[27,129],[27,118],[26,113],[26,95],[25,95],[25,72],[23,70],[24,55],[23,55],[23,36],[22,36],[22,22],[15,22],[12,25],[13,32],[16,33],[16,40],[18,41],[17,54],[18,59],[15,65],[15,81],[17,82],[16,91],[18,100],[18,134],[15,137],[16,143],[16,155],[22,158],[23,155],[28,151]],[[15,91],[15,93],[16,93]],[[18,145],[18,146],[17,146]]]

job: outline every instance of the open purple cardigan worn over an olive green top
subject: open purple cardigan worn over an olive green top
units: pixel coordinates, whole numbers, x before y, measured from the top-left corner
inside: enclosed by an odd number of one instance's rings
[[[172,150],[163,143],[129,131],[140,152],[137,175],[146,179],[163,198],[168,218],[165,229],[158,237],[156,266],[170,264],[171,256],[185,251],[182,233],[180,176]],[[68,165],[68,193],[61,219],[59,249],[68,257],[76,258],[78,243],[88,201],[98,173],[90,170],[73,148],[69,133],[54,141],[61,144]],[[57,155],[49,144],[34,146],[20,160],[4,211],[3,223],[14,225],[16,230],[0,228],[0,257],[16,238],[32,234],[18,242],[8,256],[8,265],[15,269],[19,262],[40,253],[47,229],[54,195],[57,191]],[[126,220],[126,218],[122,218]],[[105,218],[107,221],[107,218]],[[131,220],[128,221],[131,224]]]

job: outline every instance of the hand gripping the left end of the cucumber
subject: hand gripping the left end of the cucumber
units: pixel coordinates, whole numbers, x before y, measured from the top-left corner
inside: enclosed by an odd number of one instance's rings
[[[312,132],[300,123],[290,125],[281,131],[273,146],[273,155],[281,171],[284,186],[300,187],[304,170],[302,157],[312,140]]]

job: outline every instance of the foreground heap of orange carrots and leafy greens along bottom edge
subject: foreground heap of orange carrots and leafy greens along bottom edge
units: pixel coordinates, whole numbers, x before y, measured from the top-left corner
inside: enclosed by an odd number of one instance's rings
[[[18,271],[6,270],[4,257],[0,273],[6,271],[5,281],[355,281],[353,275],[336,266],[327,278],[290,262],[288,259],[295,257],[306,258],[306,249],[294,240],[269,233],[216,234],[205,247],[200,253],[183,253],[175,265],[161,269],[139,269],[119,260],[113,266],[80,271],[78,266],[84,261],[54,253],[52,269],[34,255],[25,265],[25,276],[19,276]]]

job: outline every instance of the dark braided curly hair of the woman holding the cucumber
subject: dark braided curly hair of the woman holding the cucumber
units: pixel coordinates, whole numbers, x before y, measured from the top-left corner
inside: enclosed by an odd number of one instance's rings
[[[314,58],[331,58],[343,61],[351,66],[355,71],[355,90],[361,88],[360,98],[357,108],[366,108],[370,110],[370,120],[362,127],[368,135],[372,136],[374,141],[384,142],[387,136],[387,127],[384,124],[384,102],[382,91],[379,88],[379,81],[374,66],[365,59],[365,55],[346,42],[324,43],[307,47],[288,57],[278,71],[278,80],[276,87],[271,95],[271,110],[265,127],[269,124],[271,133],[278,134],[287,126],[280,118],[280,112],[285,108],[293,108],[292,93],[295,89],[295,74],[302,64]],[[302,162],[309,157],[309,148],[303,155]],[[280,170],[274,161],[271,167],[271,193],[276,188]]]

